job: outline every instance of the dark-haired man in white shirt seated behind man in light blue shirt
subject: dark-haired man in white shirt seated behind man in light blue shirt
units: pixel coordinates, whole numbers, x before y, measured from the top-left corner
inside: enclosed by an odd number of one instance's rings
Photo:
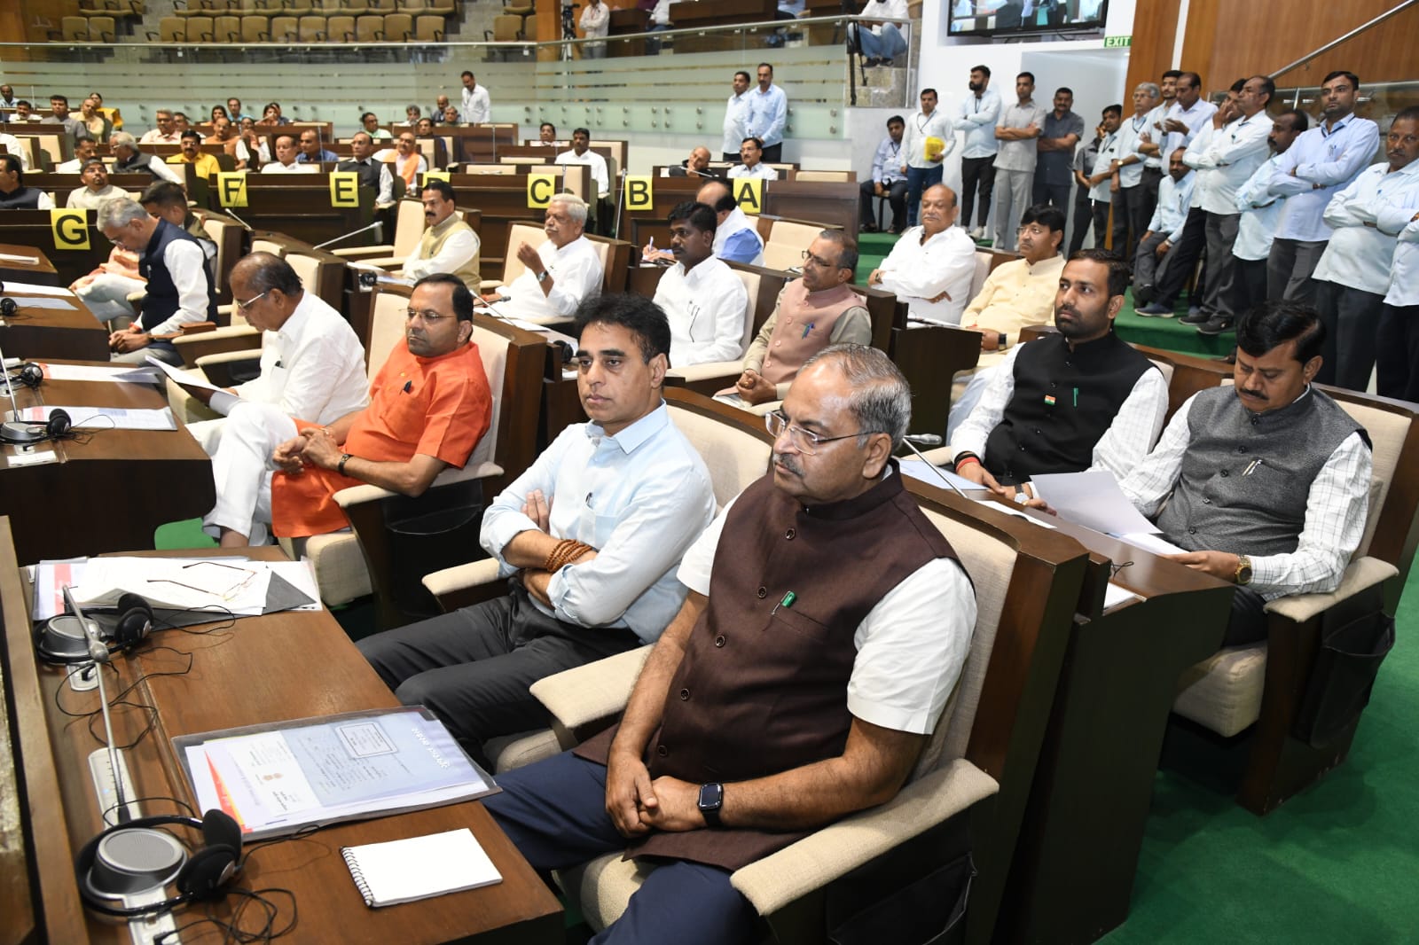
[[[702,203],[670,211],[675,264],[656,287],[656,305],[670,319],[670,366],[688,368],[744,355],[749,294],[724,260],[714,257],[715,214]]]

